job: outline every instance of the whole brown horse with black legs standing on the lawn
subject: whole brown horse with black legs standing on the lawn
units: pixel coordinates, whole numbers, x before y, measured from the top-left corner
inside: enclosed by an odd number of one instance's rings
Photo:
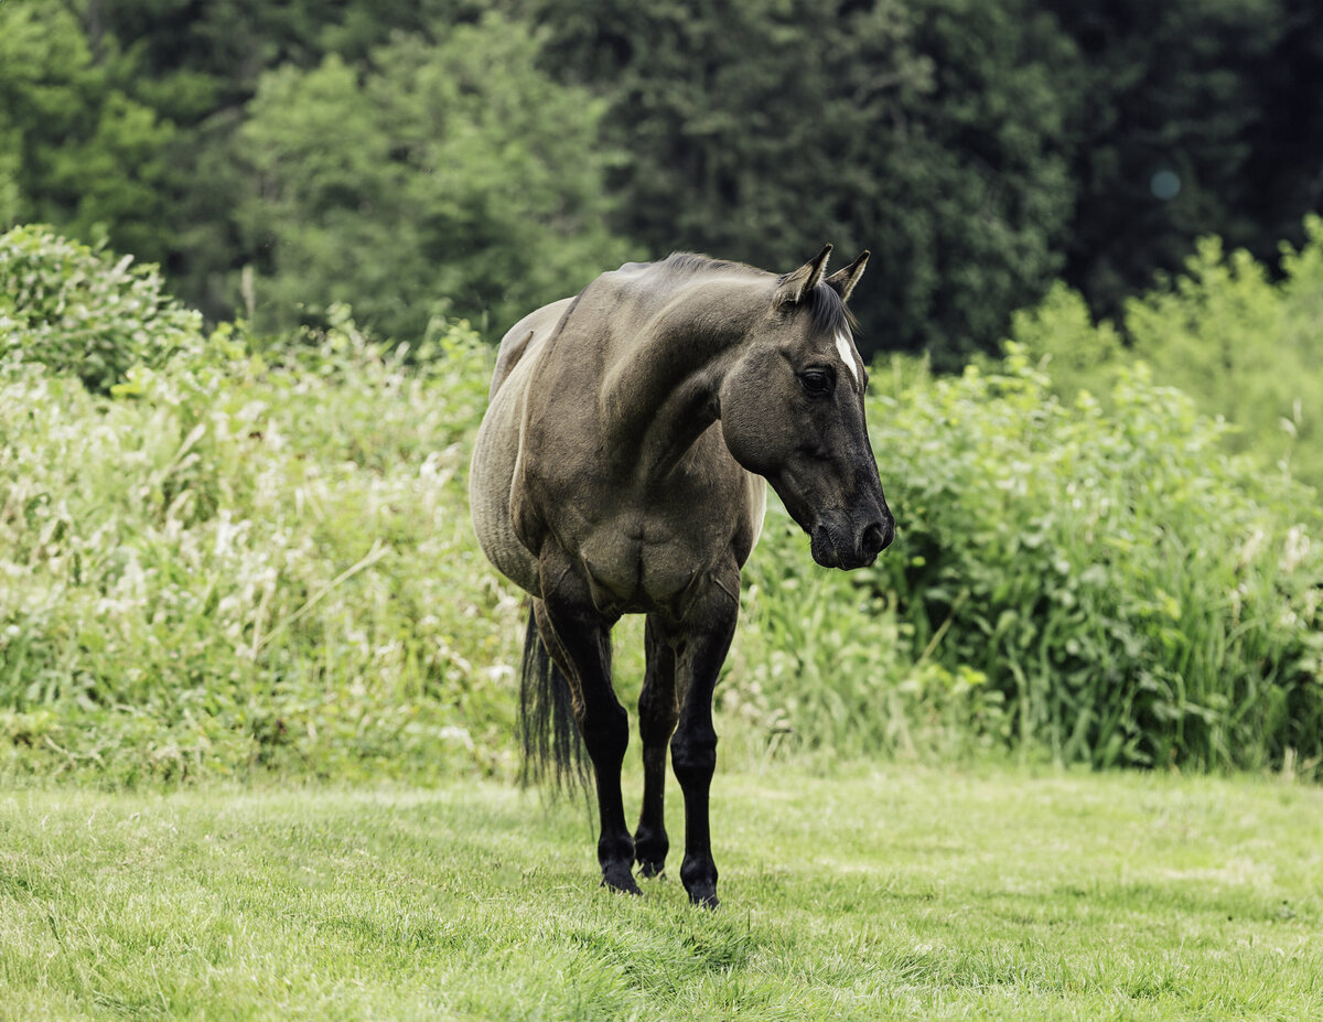
[[[607,888],[642,894],[635,862],[644,878],[664,868],[669,745],[684,796],[680,879],[692,903],[718,903],[712,698],[767,485],[826,568],[869,565],[894,535],[845,306],[868,252],[828,277],[831,248],[779,275],[692,253],[624,263],[501,340],[470,466],[472,522],[532,602],[525,770],[554,766],[560,780],[582,743]],[[623,614],[647,616],[632,834],[620,797],[628,714],[611,684]]]

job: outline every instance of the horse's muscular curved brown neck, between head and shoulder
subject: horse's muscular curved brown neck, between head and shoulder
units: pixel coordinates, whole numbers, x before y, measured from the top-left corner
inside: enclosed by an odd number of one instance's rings
[[[696,282],[626,342],[599,401],[606,449],[620,463],[664,475],[716,422],[722,379],[766,301],[761,281]]]

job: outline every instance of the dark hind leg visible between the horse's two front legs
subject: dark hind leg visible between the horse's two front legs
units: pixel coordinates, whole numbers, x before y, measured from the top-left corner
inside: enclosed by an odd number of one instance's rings
[[[644,629],[647,671],[639,692],[639,737],[643,740],[643,810],[634,831],[634,857],[639,874],[660,876],[671,842],[665,833],[667,743],[675,732],[680,708],[675,698],[675,650],[665,641],[656,618]]]

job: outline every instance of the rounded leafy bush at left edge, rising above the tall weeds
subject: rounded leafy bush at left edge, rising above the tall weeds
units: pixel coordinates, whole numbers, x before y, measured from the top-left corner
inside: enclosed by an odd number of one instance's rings
[[[0,234],[0,356],[78,376],[99,392],[132,365],[163,365],[201,347],[201,316],[134,266],[42,226]]]

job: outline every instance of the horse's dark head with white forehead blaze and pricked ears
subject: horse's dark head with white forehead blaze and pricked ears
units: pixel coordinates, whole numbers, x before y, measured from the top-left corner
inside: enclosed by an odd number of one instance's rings
[[[896,534],[864,421],[868,371],[845,308],[868,253],[826,277],[831,245],[774,278],[720,389],[732,455],[771,483],[824,568],[872,564]]]

